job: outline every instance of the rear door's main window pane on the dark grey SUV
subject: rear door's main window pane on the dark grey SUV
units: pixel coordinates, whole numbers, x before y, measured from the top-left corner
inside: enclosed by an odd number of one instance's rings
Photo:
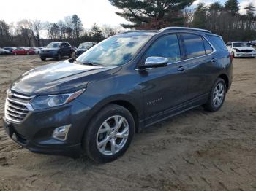
[[[203,39],[196,34],[182,34],[187,52],[187,58],[195,58],[206,55]]]

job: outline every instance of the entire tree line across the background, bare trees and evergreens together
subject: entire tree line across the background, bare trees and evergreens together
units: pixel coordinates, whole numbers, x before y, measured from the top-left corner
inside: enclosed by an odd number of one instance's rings
[[[225,42],[256,39],[256,8],[252,3],[247,4],[244,8],[246,14],[242,15],[238,0],[227,0],[225,4],[200,3],[193,9],[191,5],[195,0],[109,1],[121,9],[116,14],[129,21],[129,24],[121,24],[123,28],[159,29],[166,26],[187,26],[208,29],[221,35]],[[64,17],[57,23],[24,19],[14,25],[0,20],[0,47],[40,47],[56,41],[78,46],[80,42],[100,42],[120,30],[106,25],[99,27],[97,24],[86,29],[78,15]],[[47,34],[47,38],[42,38],[43,32]]]

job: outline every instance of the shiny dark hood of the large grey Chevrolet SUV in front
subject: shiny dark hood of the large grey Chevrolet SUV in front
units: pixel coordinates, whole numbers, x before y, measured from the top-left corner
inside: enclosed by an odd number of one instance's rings
[[[116,66],[88,66],[61,61],[27,71],[12,83],[11,90],[23,95],[70,93],[119,69]]]

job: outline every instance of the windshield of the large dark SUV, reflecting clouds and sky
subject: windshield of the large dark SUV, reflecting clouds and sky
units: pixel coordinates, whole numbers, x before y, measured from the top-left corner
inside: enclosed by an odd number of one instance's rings
[[[96,44],[77,58],[79,63],[120,66],[129,62],[151,36],[113,36]]]

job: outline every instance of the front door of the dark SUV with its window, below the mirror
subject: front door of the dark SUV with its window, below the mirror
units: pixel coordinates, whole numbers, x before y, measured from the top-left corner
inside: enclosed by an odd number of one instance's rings
[[[167,34],[159,37],[146,50],[143,62],[151,56],[168,59],[165,67],[140,71],[143,87],[143,105],[146,125],[177,110],[184,109],[187,101],[187,74],[181,61],[181,49],[178,36]]]

